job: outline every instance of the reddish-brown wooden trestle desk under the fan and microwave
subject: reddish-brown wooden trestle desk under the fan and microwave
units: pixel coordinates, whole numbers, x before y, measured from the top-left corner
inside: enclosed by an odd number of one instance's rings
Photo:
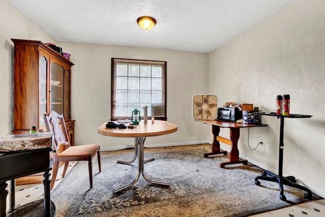
[[[259,124],[259,125],[249,125],[243,123],[236,123],[230,121],[223,121],[223,120],[198,120],[194,119],[199,122],[208,123],[212,125],[212,152],[204,153],[204,157],[207,158],[210,155],[214,154],[227,154],[227,151],[220,150],[220,143],[225,143],[231,145],[230,152],[229,152],[229,161],[220,162],[219,167],[224,168],[225,165],[230,164],[244,164],[247,165],[247,160],[239,159],[239,150],[238,150],[238,140],[240,136],[240,129],[241,128],[253,128],[253,127],[266,127],[266,124]],[[230,129],[230,139],[223,138],[219,136],[220,128],[229,128]]]

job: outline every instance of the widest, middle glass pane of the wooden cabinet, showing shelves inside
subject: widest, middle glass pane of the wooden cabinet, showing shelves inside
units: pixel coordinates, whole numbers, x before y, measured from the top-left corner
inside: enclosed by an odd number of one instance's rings
[[[64,69],[62,66],[51,63],[50,75],[50,110],[63,114],[64,104]]]

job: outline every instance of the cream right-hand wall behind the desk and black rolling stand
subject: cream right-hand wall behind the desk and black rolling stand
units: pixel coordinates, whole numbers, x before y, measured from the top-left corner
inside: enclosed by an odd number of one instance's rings
[[[284,123],[283,173],[323,193],[325,173],[325,1],[297,0],[284,10],[210,53],[210,92],[225,102],[253,103],[274,112],[277,95],[290,95],[290,113],[313,115]],[[278,169],[279,120],[241,130],[239,151]],[[229,132],[223,130],[224,136]],[[317,190],[317,189],[316,189]],[[322,196],[325,196],[324,194]]]

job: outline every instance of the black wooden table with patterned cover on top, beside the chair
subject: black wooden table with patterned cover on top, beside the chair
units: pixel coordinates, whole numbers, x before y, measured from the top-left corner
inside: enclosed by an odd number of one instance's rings
[[[20,135],[20,134],[17,134]],[[6,190],[6,181],[11,180],[10,187],[10,209],[12,213],[7,216],[19,216],[19,213],[29,216],[54,216],[55,206],[50,198],[50,151],[52,151],[52,135],[53,133],[41,134],[44,136],[29,135],[27,139],[24,135],[18,138],[2,138],[0,139],[0,216],[6,217],[6,198],[8,191]],[[12,135],[10,135],[12,136]],[[26,149],[27,148],[27,149]],[[20,207],[15,207],[15,185],[14,179],[44,172],[44,210],[34,210],[40,206],[23,206],[26,210],[21,210]],[[52,207],[52,208],[51,208]]]

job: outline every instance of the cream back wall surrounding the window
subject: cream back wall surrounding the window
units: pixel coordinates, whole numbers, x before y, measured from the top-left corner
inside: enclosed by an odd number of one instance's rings
[[[72,118],[76,144],[99,142],[102,150],[125,148],[132,138],[114,138],[98,133],[111,117],[111,58],[167,61],[167,117],[178,131],[146,139],[146,145],[195,144],[203,140],[201,125],[191,115],[192,97],[208,91],[209,54],[175,50],[99,44],[56,42],[71,53]],[[131,114],[130,114],[131,116]],[[208,131],[204,132],[208,140]]]

